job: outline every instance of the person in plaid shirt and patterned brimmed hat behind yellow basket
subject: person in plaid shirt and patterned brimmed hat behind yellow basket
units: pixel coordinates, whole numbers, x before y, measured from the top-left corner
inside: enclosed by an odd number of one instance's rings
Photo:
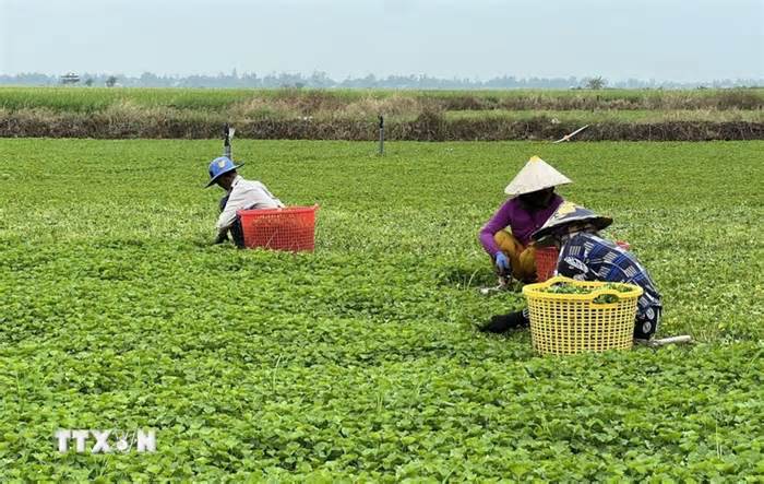
[[[612,220],[571,202],[562,203],[533,238],[560,249],[557,273],[578,281],[604,281],[638,285],[634,338],[649,340],[658,330],[662,306],[649,274],[632,252],[599,236]],[[529,324],[528,309],[494,316],[481,331],[501,333]]]

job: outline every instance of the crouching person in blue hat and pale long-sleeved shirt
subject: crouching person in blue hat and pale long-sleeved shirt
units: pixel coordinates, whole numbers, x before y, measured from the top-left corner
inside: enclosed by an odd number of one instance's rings
[[[244,234],[241,228],[241,220],[236,214],[239,210],[252,209],[278,209],[284,203],[273,196],[260,181],[243,179],[236,173],[236,169],[243,163],[235,165],[227,156],[220,156],[210,163],[211,187],[217,185],[226,190],[226,194],[220,199],[220,215],[217,219],[217,236],[213,244],[222,244],[228,240],[230,232],[234,244],[238,248],[244,247]]]

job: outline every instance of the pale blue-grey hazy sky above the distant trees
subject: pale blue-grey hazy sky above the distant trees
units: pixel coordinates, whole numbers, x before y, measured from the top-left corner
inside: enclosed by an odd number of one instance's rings
[[[0,0],[0,74],[764,79],[764,0]]]

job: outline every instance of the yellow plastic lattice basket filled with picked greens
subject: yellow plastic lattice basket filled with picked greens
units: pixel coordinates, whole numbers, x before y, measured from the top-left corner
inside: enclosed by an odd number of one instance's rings
[[[559,282],[594,291],[589,294],[541,291]],[[636,300],[642,295],[642,287],[622,284],[631,287],[631,291],[623,293],[609,288],[597,290],[605,284],[556,276],[523,287],[523,294],[528,300],[534,350],[542,355],[568,355],[630,349],[634,339]],[[594,302],[605,294],[617,296],[618,302]]]

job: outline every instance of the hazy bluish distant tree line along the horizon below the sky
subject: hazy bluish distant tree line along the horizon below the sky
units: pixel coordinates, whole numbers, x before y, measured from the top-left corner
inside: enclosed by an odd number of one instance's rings
[[[67,75],[72,75],[68,73]],[[628,79],[608,81],[601,75],[590,78],[516,78],[502,75],[486,81],[477,79],[442,79],[426,74],[387,75],[369,74],[363,78],[335,80],[325,72],[272,73],[258,75],[253,72],[216,75],[157,75],[144,72],[139,76],[105,73],[82,73],[79,80],[65,75],[43,73],[0,74],[0,84],[12,85],[83,85],[83,86],[126,86],[126,87],[335,87],[335,88],[410,88],[410,90],[502,90],[502,88],[695,88],[695,87],[740,87],[764,85],[762,79],[724,79],[714,82],[669,82],[657,80]]]

